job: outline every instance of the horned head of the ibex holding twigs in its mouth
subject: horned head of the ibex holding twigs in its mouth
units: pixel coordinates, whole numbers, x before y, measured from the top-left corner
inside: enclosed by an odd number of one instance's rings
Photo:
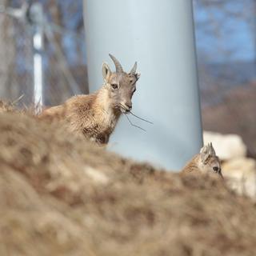
[[[135,62],[130,73],[126,73],[122,70],[120,62],[113,55],[110,54],[110,58],[114,62],[115,72],[110,70],[110,67],[103,63],[102,74],[107,90],[110,92],[110,98],[112,99],[115,108],[118,108],[122,113],[127,113],[132,108],[131,98],[136,90],[136,82],[140,77],[137,73],[137,62]]]

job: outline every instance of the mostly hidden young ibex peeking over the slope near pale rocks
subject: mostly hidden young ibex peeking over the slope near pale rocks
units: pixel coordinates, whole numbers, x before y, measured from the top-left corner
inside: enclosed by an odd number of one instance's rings
[[[222,177],[222,169],[218,156],[212,143],[203,146],[199,154],[186,164],[181,174],[212,174],[216,173]]]

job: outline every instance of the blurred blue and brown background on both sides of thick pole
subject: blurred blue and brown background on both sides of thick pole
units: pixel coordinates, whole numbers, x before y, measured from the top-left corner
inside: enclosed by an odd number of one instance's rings
[[[43,7],[43,46],[34,18]],[[0,98],[30,106],[34,54],[42,56],[44,104],[88,92],[82,0],[0,0]],[[198,78],[204,130],[241,136],[256,158],[256,1],[194,0]],[[106,56],[107,58],[107,56]],[[102,60],[103,61],[103,60]],[[100,66],[99,75],[101,74]]]

